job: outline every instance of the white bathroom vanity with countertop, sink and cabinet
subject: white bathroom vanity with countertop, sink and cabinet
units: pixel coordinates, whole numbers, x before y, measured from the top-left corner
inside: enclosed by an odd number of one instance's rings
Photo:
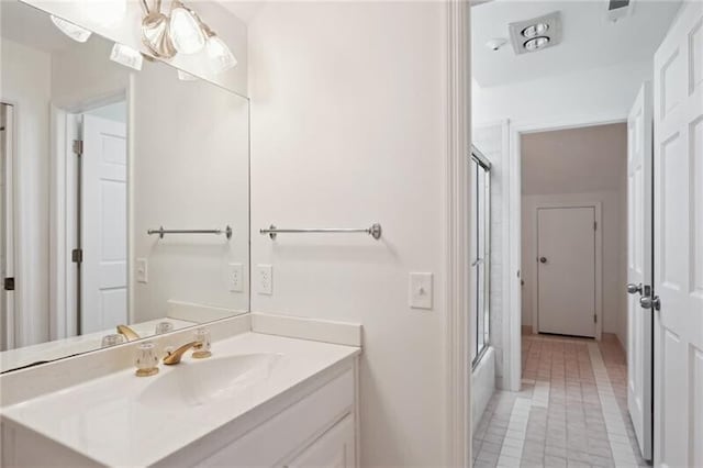
[[[214,341],[211,358],[142,378],[129,366],[4,405],[2,466],[356,466],[360,347],[263,333],[294,327],[252,315],[231,319],[253,325]]]

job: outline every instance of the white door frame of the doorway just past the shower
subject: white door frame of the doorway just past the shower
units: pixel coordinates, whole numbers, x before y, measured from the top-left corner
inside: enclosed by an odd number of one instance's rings
[[[510,143],[505,183],[507,186],[509,238],[505,265],[510,285],[503,291],[503,308],[509,311],[503,326],[510,339],[505,343],[509,366],[503,371],[504,388],[520,391],[522,383],[522,147],[524,134],[554,130],[582,129],[627,122],[627,112],[562,115],[545,121],[510,122]],[[601,321],[602,322],[602,321]]]

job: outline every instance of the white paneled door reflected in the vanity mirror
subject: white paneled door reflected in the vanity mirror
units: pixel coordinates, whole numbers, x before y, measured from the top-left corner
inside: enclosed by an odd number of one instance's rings
[[[127,153],[124,123],[83,115],[81,333],[127,322]]]

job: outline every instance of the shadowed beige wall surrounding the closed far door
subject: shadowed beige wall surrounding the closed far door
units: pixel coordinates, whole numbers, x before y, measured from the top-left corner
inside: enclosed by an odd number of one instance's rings
[[[542,132],[522,138],[523,325],[532,325],[536,207],[539,203],[602,203],[603,332],[622,332],[626,282],[627,125]],[[548,177],[545,177],[548,176]],[[626,322],[625,322],[626,324]],[[624,339],[621,336],[621,339]],[[623,342],[624,343],[624,342]]]

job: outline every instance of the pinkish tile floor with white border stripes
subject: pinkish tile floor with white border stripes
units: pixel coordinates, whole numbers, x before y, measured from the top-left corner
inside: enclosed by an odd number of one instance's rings
[[[523,389],[496,391],[473,437],[473,466],[637,467],[625,355],[614,337],[523,336]]]

